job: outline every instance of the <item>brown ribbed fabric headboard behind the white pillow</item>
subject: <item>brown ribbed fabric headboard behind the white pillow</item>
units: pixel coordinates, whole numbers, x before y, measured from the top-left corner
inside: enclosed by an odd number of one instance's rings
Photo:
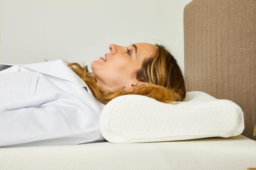
[[[256,140],[256,0],[193,0],[184,8],[188,91],[232,100],[244,111],[242,135]]]

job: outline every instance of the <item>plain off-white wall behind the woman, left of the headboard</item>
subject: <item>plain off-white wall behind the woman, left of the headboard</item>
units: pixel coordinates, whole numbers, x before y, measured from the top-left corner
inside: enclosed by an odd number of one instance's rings
[[[191,0],[0,0],[0,63],[90,64],[108,45],[166,45],[184,69],[183,9]]]

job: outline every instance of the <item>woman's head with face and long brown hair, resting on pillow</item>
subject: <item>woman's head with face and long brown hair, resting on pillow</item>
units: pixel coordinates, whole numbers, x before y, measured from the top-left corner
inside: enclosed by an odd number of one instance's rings
[[[68,64],[100,102],[125,94],[138,94],[160,102],[183,101],[186,88],[182,71],[162,45],[134,43],[109,46],[110,53],[92,63],[93,75],[77,63]],[[76,66],[76,68],[74,68]]]

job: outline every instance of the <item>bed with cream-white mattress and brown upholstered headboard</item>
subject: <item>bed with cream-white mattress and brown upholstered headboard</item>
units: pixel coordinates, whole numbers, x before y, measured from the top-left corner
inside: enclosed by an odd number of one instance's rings
[[[188,91],[236,102],[242,135],[150,143],[0,148],[0,169],[256,168],[256,1],[193,0],[184,8]]]

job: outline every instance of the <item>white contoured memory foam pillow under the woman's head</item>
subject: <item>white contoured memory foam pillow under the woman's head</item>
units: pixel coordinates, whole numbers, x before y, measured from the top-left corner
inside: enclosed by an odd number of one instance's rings
[[[111,100],[100,115],[100,131],[112,143],[177,141],[232,137],[244,130],[242,109],[230,100],[187,92],[179,104],[139,95]]]

